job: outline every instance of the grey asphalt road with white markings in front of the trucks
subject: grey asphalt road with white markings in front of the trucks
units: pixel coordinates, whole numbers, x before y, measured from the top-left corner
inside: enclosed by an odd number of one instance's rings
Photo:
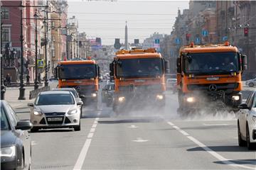
[[[100,103],[83,109],[82,130],[31,133],[33,169],[256,169],[256,150],[238,147],[231,113],[176,113],[176,94],[166,108],[115,115]],[[17,106],[26,119],[28,108]]]

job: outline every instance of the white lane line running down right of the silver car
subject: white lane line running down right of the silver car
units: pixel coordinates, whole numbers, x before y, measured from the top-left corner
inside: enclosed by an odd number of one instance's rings
[[[98,115],[100,115],[100,111],[99,111]],[[90,133],[87,135],[87,140],[85,140],[85,144],[83,145],[82,150],[79,154],[78,160],[77,160],[77,162],[75,162],[75,166],[74,166],[73,170],[82,169],[82,164],[85,162],[85,157],[87,155],[88,149],[92,142],[92,137],[94,135],[95,128],[97,127],[97,120],[99,120],[99,119],[100,118],[95,118],[92,128],[90,129]],[[93,128],[93,127],[95,127],[95,128]]]

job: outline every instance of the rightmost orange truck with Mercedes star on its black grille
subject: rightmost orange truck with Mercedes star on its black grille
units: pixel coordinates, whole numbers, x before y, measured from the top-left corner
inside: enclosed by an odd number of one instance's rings
[[[242,72],[246,56],[228,42],[181,47],[177,58],[179,111],[193,108],[237,110],[242,102]],[[182,112],[184,113],[184,112]]]

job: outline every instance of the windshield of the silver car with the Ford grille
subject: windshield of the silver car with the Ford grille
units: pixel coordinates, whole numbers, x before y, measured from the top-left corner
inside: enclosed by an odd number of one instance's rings
[[[73,104],[75,104],[75,101],[70,94],[41,94],[36,99],[37,106]]]

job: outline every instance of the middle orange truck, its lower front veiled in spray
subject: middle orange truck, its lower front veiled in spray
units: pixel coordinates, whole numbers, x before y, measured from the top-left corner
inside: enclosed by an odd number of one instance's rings
[[[113,110],[164,106],[168,62],[154,48],[120,50],[110,64],[114,78]]]

